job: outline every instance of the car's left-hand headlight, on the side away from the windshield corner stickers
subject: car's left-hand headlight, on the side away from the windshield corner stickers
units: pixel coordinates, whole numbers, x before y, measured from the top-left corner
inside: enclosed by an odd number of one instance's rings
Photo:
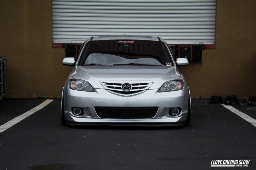
[[[94,92],[94,89],[91,86],[91,84],[84,80],[69,80],[69,88],[85,92]]]

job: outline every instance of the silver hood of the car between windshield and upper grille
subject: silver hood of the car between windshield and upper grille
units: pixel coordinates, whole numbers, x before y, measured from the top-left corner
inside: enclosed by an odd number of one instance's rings
[[[103,80],[120,80],[127,83],[148,80],[154,82],[149,89],[159,89],[164,82],[179,79],[180,73],[175,67],[166,66],[90,65],[77,66],[72,77],[88,81],[95,89],[104,89],[99,82]]]

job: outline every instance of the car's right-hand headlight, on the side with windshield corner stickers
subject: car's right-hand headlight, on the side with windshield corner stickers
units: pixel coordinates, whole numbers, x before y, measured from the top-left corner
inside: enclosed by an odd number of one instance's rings
[[[167,81],[163,83],[162,87],[158,92],[171,92],[171,91],[177,91],[181,90],[184,87],[184,81],[183,80],[172,80]]]

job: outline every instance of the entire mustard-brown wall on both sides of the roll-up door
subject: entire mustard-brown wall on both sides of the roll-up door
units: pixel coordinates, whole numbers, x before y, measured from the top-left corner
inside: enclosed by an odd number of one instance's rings
[[[256,1],[217,0],[216,49],[202,64],[180,67],[192,97],[256,95]],[[51,0],[0,1],[0,55],[5,55],[5,97],[60,97],[72,67],[52,48]]]

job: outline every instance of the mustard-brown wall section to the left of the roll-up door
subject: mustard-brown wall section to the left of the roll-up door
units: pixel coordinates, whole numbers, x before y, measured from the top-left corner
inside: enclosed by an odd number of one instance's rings
[[[5,97],[60,97],[72,67],[52,48],[52,1],[0,1],[0,55],[6,56]]]

